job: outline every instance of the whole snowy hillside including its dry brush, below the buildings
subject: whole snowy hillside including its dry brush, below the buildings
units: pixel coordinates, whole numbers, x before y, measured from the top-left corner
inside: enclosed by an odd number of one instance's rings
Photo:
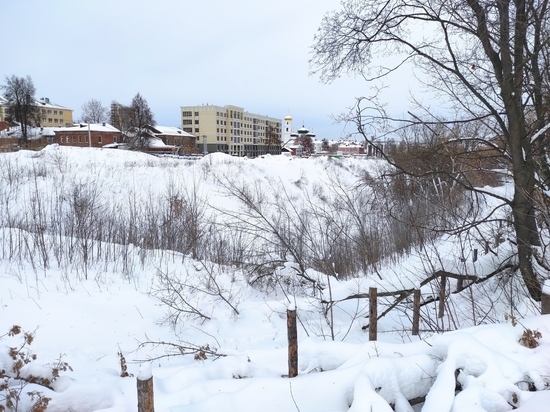
[[[9,348],[24,342],[13,325],[34,337],[20,353],[37,355],[19,377],[66,369],[51,388],[5,378],[12,409],[29,410],[35,390],[48,411],[134,411],[136,376],[152,373],[157,411],[546,410],[550,318],[502,267],[510,244],[398,247],[403,228],[375,184],[385,169],[55,145],[0,154],[0,369],[10,376]],[[460,292],[448,279],[440,317],[437,279],[423,283],[437,271],[494,276]],[[369,342],[371,287],[388,313]],[[415,288],[413,336],[412,295],[391,293]]]

